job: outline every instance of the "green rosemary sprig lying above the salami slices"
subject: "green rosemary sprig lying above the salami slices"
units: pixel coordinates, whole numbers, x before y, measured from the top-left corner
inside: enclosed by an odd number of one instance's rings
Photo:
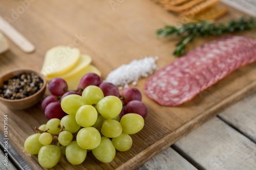
[[[186,23],[182,26],[165,26],[157,30],[157,35],[161,37],[170,37],[172,35],[182,36],[182,40],[176,44],[173,52],[175,56],[181,56],[185,52],[188,42],[198,36],[221,35],[224,33],[232,33],[237,31],[251,30],[256,28],[255,18],[241,17],[237,20],[231,19],[228,23],[215,23],[214,21],[199,21]]]

